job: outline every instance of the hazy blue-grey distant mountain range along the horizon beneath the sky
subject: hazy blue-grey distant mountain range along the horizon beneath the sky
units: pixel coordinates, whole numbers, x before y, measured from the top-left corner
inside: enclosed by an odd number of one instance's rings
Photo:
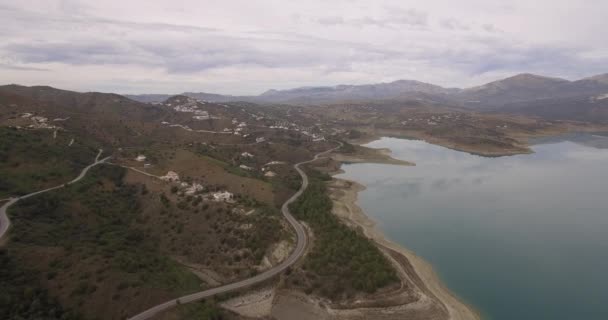
[[[608,74],[576,81],[529,73],[472,88],[444,88],[415,80],[365,85],[300,87],[268,90],[256,96],[205,92],[183,95],[210,102],[322,105],[365,102],[419,101],[477,111],[518,113],[549,119],[608,120]],[[140,102],[161,102],[171,95],[127,95]]]

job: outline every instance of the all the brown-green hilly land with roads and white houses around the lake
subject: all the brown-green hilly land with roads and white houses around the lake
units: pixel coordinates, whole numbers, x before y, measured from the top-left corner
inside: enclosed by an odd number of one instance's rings
[[[379,137],[498,157],[531,153],[539,137],[608,132],[602,121],[364,100],[144,103],[0,87],[0,199],[21,197],[3,207],[1,316],[477,318],[426,262],[374,235],[352,186],[332,176],[343,164],[414,165],[363,146]],[[68,183],[98,149],[103,163]],[[53,186],[63,188],[24,196]]]

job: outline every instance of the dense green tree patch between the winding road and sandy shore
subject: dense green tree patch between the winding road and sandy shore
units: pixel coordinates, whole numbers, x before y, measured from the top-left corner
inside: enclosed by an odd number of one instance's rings
[[[373,293],[398,281],[394,269],[380,250],[360,232],[344,225],[331,212],[331,199],[319,175],[311,175],[292,212],[313,229],[315,239],[306,257],[303,278],[295,285],[307,292],[336,299],[354,292]]]

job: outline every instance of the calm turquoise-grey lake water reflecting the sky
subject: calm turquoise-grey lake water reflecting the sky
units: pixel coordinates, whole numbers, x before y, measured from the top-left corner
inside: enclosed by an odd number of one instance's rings
[[[415,167],[345,165],[359,204],[485,319],[608,319],[608,149],[539,141],[484,158],[383,138]],[[584,139],[583,139],[584,140]],[[599,143],[597,143],[599,141]]]

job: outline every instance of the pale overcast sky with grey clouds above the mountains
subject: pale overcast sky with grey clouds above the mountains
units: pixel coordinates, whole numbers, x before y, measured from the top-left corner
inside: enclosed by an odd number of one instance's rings
[[[258,94],[608,72],[606,0],[0,0],[0,84]]]

